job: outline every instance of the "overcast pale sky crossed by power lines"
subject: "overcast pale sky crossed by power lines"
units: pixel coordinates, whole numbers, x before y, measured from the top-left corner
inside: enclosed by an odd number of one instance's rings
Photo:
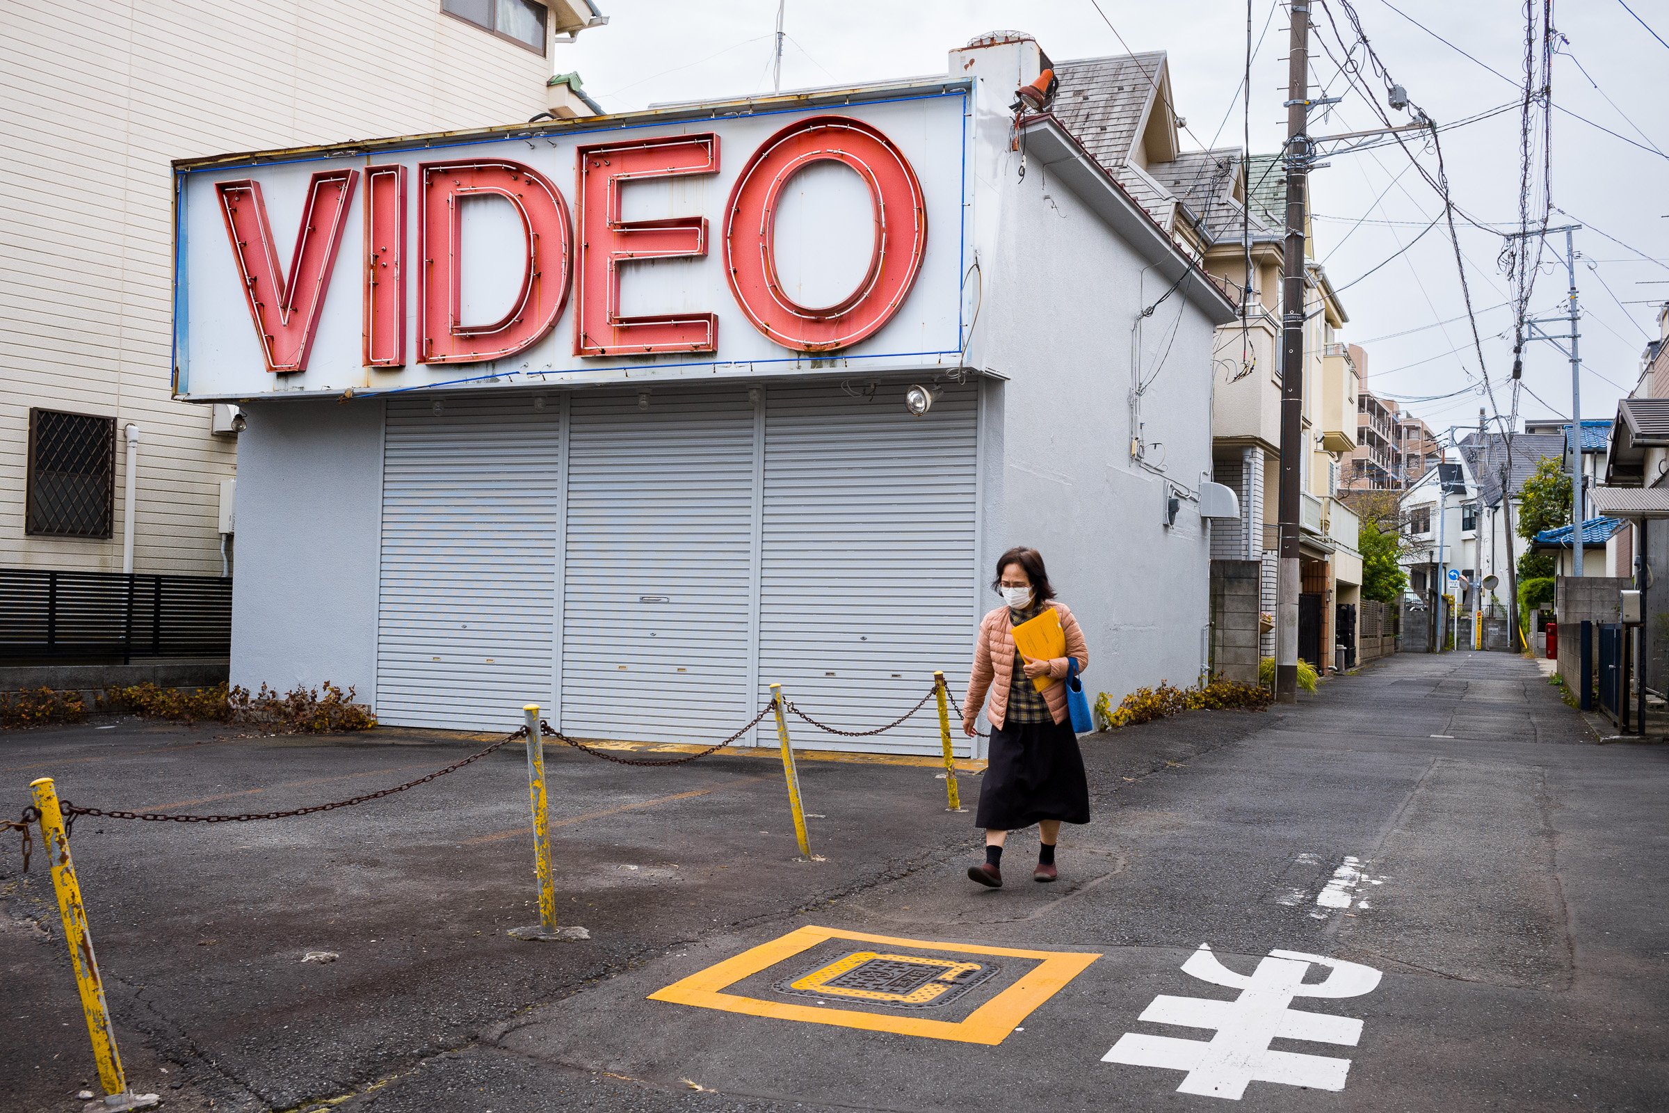
[[[1409,97],[1439,123],[1460,120],[1515,100],[1522,72],[1524,8],[1502,0],[1354,0],[1364,30]],[[1390,5],[1474,55],[1467,60],[1420,30]],[[1627,0],[1669,38],[1669,2]],[[1185,147],[1240,145],[1247,7],[1243,0],[1100,0],[1130,50],[1167,50],[1177,110],[1188,120]],[[586,92],[611,112],[653,102],[733,97],[771,88],[774,0],[599,0],[611,23],[556,47],[556,68],[577,70]],[[1539,5],[1537,5],[1539,7]],[[1252,147],[1275,150],[1285,137],[1282,100],[1287,80],[1287,12],[1252,0],[1253,38],[1262,47],[1252,68]],[[1334,17],[1349,35],[1344,8]],[[1327,17],[1315,13],[1327,38]],[[1556,27],[1569,38],[1556,58],[1554,100],[1606,135],[1562,112],[1554,113],[1552,199],[1589,230],[1576,234],[1582,322],[1582,414],[1611,417],[1639,375],[1641,349],[1657,335],[1656,305],[1669,297],[1669,47],[1637,23],[1619,0],[1564,0]],[[1265,33],[1267,27],[1267,33]],[[858,83],[943,73],[945,53],[968,38],[1013,28],[1031,33],[1055,60],[1127,53],[1090,0],[993,3],[988,0],[788,0],[783,88]],[[1314,77],[1345,102],[1312,130],[1319,135],[1377,123],[1372,108],[1335,77],[1317,53]],[[1349,42],[1349,38],[1347,38]],[[1360,52],[1359,55],[1360,57]],[[1599,88],[1584,77],[1582,68]],[[1195,142],[1195,138],[1198,142]],[[1485,224],[1517,222],[1519,113],[1509,112],[1444,133],[1444,157],[1455,204]],[[1409,167],[1399,147],[1334,157],[1312,177],[1315,252],[1335,287],[1384,262],[1442,210],[1437,194]],[[1435,162],[1424,155],[1429,169]],[[1360,224],[1359,219],[1365,217]],[[1572,222],[1554,214],[1556,224]],[[1604,232],[1604,235],[1601,235]],[[1606,239],[1616,237],[1624,245]],[[1562,237],[1559,239],[1562,247]],[[1490,380],[1505,384],[1512,367],[1505,277],[1495,257],[1502,242],[1460,224],[1472,304]],[[1637,252],[1649,257],[1642,259]],[[1549,260],[1554,255],[1549,254]],[[1559,310],[1564,267],[1549,264],[1537,279],[1534,307]],[[1607,289],[1609,287],[1609,289]],[[1464,320],[1454,250],[1445,225],[1432,229],[1407,254],[1342,295],[1345,339],[1370,352],[1369,385],[1409,400],[1432,426],[1477,424],[1477,357]],[[1460,320],[1450,320],[1462,317]],[[1437,324],[1449,322],[1449,324]],[[1415,330],[1417,332],[1410,332]],[[1505,335],[1502,335],[1502,332]],[[1405,335],[1392,335],[1405,334]],[[1520,417],[1571,414],[1571,369],[1551,344],[1529,347]],[[1497,390],[1500,412],[1510,392]]]

